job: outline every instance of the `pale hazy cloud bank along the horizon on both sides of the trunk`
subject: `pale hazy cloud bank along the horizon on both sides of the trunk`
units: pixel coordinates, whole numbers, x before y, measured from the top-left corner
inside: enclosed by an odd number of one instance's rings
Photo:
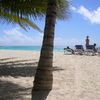
[[[0,45],[41,45],[43,34],[37,33],[37,36],[27,36],[20,31],[20,28],[13,28],[3,32],[3,36],[0,37]],[[82,44],[79,39],[68,39],[62,37],[55,37],[54,44],[56,46],[74,46],[76,44]]]

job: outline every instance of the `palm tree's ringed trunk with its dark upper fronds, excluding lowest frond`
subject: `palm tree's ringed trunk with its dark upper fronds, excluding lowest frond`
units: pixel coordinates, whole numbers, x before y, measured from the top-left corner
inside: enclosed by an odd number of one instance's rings
[[[35,74],[32,92],[51,90],[53,83],[52,64],[54,30],[56,18],[64,19],[67,0],[1,0],[1,10],[7,14],[29,19],[43,17],[46,14],[43,44],[40,59]],[[13,6],[12,6],[13,5]],[[24,26],[24,24],[21,24]]]

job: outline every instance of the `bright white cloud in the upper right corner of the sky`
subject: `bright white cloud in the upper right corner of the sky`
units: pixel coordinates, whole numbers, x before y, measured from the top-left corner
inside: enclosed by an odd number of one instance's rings
[[[100,7],[93,11],[90,11],[84,6],[80,6],[79,9],[72,7],[72,10],[83,15],[84,18],[89,20],[91,23],[100,24]]]

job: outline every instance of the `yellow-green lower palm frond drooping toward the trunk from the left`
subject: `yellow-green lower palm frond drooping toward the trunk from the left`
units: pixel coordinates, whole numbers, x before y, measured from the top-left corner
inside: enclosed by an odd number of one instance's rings
[[[42,32],[42,30],[35,23],[33,23],[27,18],[22,18],[9,13],[0,12],[0,20],[0,22],[5,21],[7,23],[19,24],[25,30],[27,30],[27,28],[31,26],[34,29],[37,29],[38,31]]]

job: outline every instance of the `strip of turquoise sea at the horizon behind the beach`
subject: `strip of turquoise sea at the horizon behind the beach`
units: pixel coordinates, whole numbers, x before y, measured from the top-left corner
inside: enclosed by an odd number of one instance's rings
[[[1,50],[28,50],[28,51],[40,51],[41,46],[0,46]],[[63,52],[63,47],[55,47],[55,52]]]

